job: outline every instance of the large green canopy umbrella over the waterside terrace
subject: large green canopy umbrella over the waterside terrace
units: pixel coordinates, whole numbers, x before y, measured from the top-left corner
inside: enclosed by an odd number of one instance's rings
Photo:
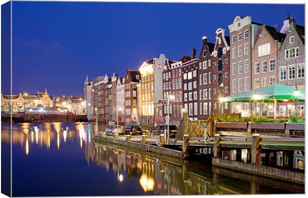
[[[305,101],[305,90],[298,89],[298,96],[296,97],[295,91],[297,88],[289,87],[280,84],[269,85],[260,87],[254,90],[241,92],[221,99],[224,102],[265,102],[274,103],[286,101]]]

